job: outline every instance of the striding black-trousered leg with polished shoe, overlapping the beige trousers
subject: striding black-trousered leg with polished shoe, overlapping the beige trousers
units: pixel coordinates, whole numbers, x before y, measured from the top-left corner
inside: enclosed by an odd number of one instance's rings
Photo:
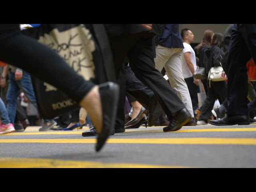
[[[191,119],[191,115],[175,90],[155,68],[152,38],[145,36],[144,33],[139,35],[139,40],[128,52],[130,66],[136,77],[154,92],[168,119],[170,119],[170,124],[164,128],[164,132],[179,130]]]

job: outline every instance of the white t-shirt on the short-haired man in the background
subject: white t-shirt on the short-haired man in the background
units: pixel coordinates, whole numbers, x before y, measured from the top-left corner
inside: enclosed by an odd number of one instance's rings
[[[182,66],[182,72],[183,72],[184,79],[186,79],[186,78],[192,77],[192,73],[190,72],[190,70],[188,68],[187,62],[184,57],[184,53],[186,53],[186,52],[191,53],[191,60],[192,60],[192,63],[194,64],[195,70],[196,70],[196,54],[195,54],[195,51],[190,46],[190,44],[183,43],[183,45],[184,45],[184,49],[183,49],[183,54],[181,56],[181,66]]]

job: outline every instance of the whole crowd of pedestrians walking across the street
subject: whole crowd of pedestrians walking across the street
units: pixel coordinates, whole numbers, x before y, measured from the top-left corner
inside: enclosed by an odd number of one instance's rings
[[[97,39],[93,25],[86,24],[86,27]],[[206,30],[202,42],[193,49],[194,34],[188,28],[180,29],[179,24],[97,25],[103,26],[106,31],[111,50],[108,57],[113,64],[112,68],[108,68],[102,62],[102,66],[114,74],[111,81],[100,83],[85,80],[54,50],[20,30],[20,27],[24,30],[38,27],[38,24],[25,27],[19,24],[0,25],[0,61],[3,62],[1,98],[6,100],[4,103],[0,99],[0,134],[23,131],[30,125],[27,110],[23,111],[24,118],[17,115],[20,93],[38,110],[39,118],[40,110],[30,75],[65,92],[87,114],[86,119],[81,120],[81,110],[77,109],[50,120],[44,119],[39,131],[90,126],[90,130],[83,132],[82,136],[97,136],[96,151],[104,146],[109,135],[125,132],[126,128],[139,128],[142,124],[154,126],[162,114],[164,123],[168,122],[164,132],[177,131],[182,126],[208,124],[209,121],[214,125],[250,124],[246,63],[256,59],[255,24],[232,25],[225,65],[227,80],[221,82],[192,77],[197,67],[204,67],[208,74],[210,67],[221,64],[222,54],[226,54],[223,51],[226,38],[219,32]],[[99,40],[94,42],[96,44]],[[101,46],[100,43],[98,46]],[[104,55],[104,52],[101,54]],[[163,69],[168,78],[163,77]],[[96,73],[100,70],[102,68],[95,69]],[[134,80],[139,83],[132,83]],[[197,96],[200,81],[206,92],[201,108],[198,107]],[[132,109],[129,121],[125,118],[127,98]],[[217,99],[220,104],[225,100],[228,103],[221,118],[213,110]],[[216,120],[211,120],[213,118]],[[20,124],[23,130],[19,128]]]

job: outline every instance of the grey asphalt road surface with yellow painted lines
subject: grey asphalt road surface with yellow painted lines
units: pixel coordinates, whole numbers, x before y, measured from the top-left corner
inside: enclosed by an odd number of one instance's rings
[[[126,129],[100,152],[89,128],[0,135],[0,168],[256,168],[256,124]]]

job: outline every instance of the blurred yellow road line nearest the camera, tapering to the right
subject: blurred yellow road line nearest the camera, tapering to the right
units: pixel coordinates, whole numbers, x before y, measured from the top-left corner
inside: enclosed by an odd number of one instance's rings
[[[0,158],[0,168],[192,168],[152,164],[102,163],[43,158]]]

